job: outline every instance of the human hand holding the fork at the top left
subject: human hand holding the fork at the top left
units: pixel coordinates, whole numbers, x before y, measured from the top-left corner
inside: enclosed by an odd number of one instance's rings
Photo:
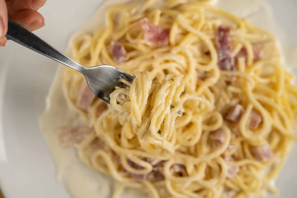
[[[38,12],[46,0],[0,0],[0,46],[7,41],[8,18],[19,23],[29,31],[35,31],[45,25],[45,19]]]

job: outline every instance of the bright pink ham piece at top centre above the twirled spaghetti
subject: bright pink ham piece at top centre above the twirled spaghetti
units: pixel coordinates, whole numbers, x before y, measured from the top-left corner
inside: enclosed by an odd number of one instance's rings
[[[148,22],[147,18],[140,21],[144,32],[144,40],[153,47],[163,47],[169,45],[169,29],[164,29]]]

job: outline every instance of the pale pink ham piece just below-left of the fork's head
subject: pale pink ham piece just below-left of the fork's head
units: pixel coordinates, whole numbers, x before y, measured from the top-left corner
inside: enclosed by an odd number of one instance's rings
[[[84,80],[81,84],[79,96],[76,101],[76,105],[79,108],[87,110],[93,103],[96,98],[95,94],[89,88],[89,85],[86,80]]]

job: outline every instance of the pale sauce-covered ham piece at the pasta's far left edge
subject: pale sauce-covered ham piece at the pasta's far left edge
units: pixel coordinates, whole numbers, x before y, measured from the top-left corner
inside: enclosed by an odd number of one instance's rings
[[[72,147],[89,138],[94,131],[88,127],[63,127],[59,130],[59,140],[63,147]]]

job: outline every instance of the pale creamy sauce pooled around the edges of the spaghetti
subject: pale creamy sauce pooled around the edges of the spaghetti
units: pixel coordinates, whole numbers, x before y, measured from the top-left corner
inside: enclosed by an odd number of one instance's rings
[[[121,3],[130,0],[122,0]],[[78,30],[73,37],[84,32],[94,32],[105,24],[105,12],[111,5],[118,4],[118,0],[106,0],[97,13]],[[265,0],[218,0],[216,6],[245,18],[252,24],[273,33],[282,39],[282,32],[276,28],[269,4]],[[101,19],[101,20],[99,20]],[[282,47],[284,60],[289,67],[297,66],[297,48]],[[113,180],[88,169],[79,161],[74,149],[61,148],[56,130],[63,126],[75,124],[87,125],[85,120],[71,109],[68,109],[62,92],[62,77],[64,66],[60,66],[47,98],[47,107],[40,124],[49,147],[49,151],[56,163],[57,180],[65,185],[73,198],[109,198],[114,188]],[[125,198],[136,198],[132,193],[125,194]]]

